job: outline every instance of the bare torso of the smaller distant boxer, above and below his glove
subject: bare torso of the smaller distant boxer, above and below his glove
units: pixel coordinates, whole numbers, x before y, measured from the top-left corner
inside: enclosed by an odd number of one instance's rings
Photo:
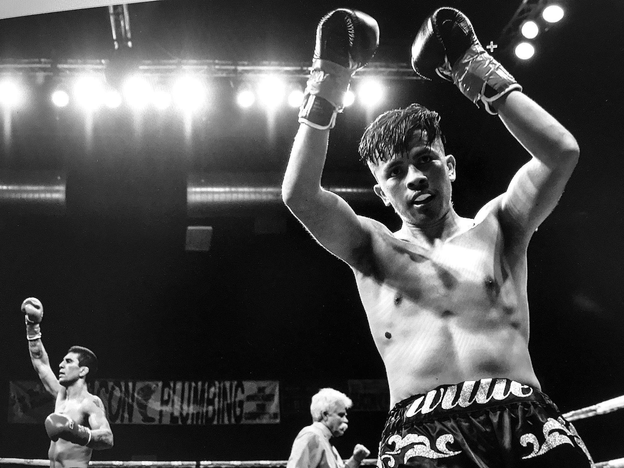
[[[84,411],[82,402],[85,398],[93,397],[89,392],[83,392],[77,397],[68,398],[65,389],[56,397],[54,412],[71,417],[77,424],[89,427],[89,415]],[[48,457],[51,468],[86,468],[89,466],[92,450],[88,447],[72,444],[65,439],[50,442]]]

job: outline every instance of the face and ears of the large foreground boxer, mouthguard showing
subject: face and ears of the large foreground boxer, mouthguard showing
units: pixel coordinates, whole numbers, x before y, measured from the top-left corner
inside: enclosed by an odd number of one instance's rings
[[[421,136],[421,130],[416,130],[406,154],[393,155],[371,169],[378,182],[374,191],[386,206],[392,206],[409,225],[428,227],[451,209],[455,158],[444,154],[439,138],[427,145]]]

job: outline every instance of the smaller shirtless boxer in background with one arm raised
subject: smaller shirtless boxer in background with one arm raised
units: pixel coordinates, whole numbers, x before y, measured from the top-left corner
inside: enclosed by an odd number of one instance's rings
[[[113,446],[113,434],[102,400],[87,391],[86,379],[97,371],[97,358],[87,348],[72,346],[59,364],[57,379],[41,343],[41,302],[28,298],[22,303],[22,312],[26,314],[26,338],[32,366],[46,390],[56,398],[54,412],[45,423],[51,439],[47,452],[50,466],[86,468],[93,450]]]

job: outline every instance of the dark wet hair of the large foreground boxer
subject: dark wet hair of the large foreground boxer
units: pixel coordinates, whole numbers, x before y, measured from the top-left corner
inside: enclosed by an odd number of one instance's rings
[[[384,112],[366,127],[359,141],[360,160],[376,165],[386,162],[392,155],[406,153],[414,130],[426,132],[427,145],[432,145],[437,137],[446,144],[440,130],[440,115],[420,104],[410,104],[404,109]]]

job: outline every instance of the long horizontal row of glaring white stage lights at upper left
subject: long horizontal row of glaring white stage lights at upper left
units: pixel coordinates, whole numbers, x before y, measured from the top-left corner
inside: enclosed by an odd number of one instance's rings
[[[384,95],[384,86],[379,80],[366,79],[358,82],[354,90],[349,90],[344,97],[344,105],[352,105],[356,99],[366,106],[378,104]],[[0,104],[5,108],[17,107],[23,102],[24,90],[17,82],[6,79],[0,82]],[[133,76],[125,80],[121,92],[109,89],[94,76],[76,79],[71,88],[56,89],[51,100],[57,107],[66,107],[74,102],[82,109],[94,111],[100,107],[115,109],[125,101],[133,109],[142,110],[155,107],[165,110],[175,106],[186,112],[201,109],[208,100],[209,90],[202,80],[193,76],[184,76],[173,84],[171,91],[154,89],[149,80]],[[265,109],[275,109],[285,102],[290,107],[298,108],[303,101],[303,87],[288,85],[280,77],[268,76],[258,80],[255,85],[243,84],[236,92],[236,103],[242,108],[249,108],[256,102]]]

